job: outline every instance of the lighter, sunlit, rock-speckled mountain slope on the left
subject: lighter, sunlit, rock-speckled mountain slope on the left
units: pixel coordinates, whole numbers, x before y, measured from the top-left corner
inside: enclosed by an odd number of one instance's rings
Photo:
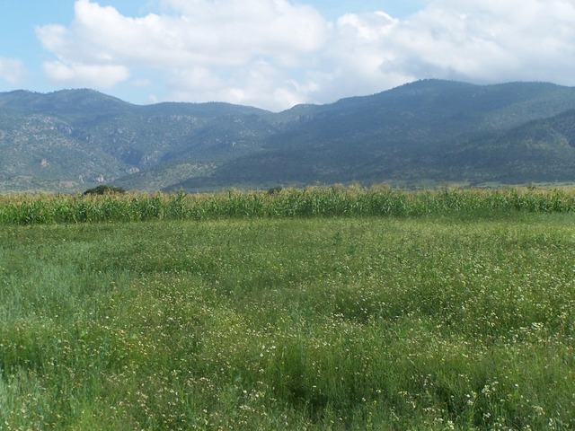
[[[2,93],[0,190],[84,189],[192,157],[174,179],[181,181],[257,145],[245,124],[264,114],[226,103],[136,106],[91,90]]]

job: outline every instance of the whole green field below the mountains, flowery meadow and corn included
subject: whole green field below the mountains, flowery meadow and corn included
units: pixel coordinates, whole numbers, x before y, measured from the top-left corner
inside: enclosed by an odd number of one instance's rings
[[[575,428],[575,190],[0,197],[0,429]]]

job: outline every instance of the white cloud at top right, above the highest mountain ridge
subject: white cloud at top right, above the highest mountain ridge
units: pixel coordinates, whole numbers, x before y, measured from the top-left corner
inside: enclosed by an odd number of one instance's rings
[[[475,82],[575,84],[574,20],[575,4],[562,0],[434,1],[395,32],[397,57],[384,67]]]

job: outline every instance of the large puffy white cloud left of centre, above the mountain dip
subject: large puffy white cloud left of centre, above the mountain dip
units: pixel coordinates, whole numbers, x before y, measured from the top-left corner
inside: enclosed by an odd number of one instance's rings
[[[129,70],[162,71],[168,99],[252,102],[280,109],[304,101],[289,91],[290,72],[314,64],[330,30],[314,8],[287,0],[164,1],[164,13],[122,16],[113,7],[75,2],[69,27],[37,29],[56,61],[57,84],[110,88]],[[274,93],[281,94],[278,100]]]

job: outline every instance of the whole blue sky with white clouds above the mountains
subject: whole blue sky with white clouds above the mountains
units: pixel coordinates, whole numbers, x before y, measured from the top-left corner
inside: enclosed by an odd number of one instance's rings
[[[575,85],[575,0],[0,0],[0,92],[330,103],[426,78]]]

